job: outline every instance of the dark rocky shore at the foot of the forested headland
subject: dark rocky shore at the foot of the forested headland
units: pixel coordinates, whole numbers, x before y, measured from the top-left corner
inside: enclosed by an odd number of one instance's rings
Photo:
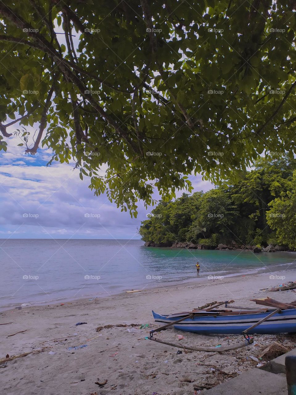
[[[230,243],[230,245],[226,245],[220,243],[218,246],[211,246],[211,245],[204,245],[204,244],[193,244],[187,242],[180,242],[175,241],[174,243],[162,243],[157,244],[153,241],[146,241],[144,244],[146,247],[170,247],[170,248],[187,248],[189,250],[247,250],[253,251],[256,254],[260,254],[261,252],[277,252],[277,251],[291,251],[282,246],[273,246],[272,244],[268,245],[267,247],[259,247],[259,246],[251,246],[251,245],[238,245],[235,242]]]

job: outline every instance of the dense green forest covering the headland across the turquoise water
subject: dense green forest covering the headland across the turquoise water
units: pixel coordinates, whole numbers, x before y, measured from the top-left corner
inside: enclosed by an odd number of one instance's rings
[[[296,160],[259,158],[236,184],[160,200],[147,217],[146,246],[296,250]]]

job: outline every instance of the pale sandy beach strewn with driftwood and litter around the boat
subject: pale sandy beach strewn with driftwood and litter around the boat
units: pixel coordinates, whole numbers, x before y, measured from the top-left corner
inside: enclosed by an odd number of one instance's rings
[[[253,306],[255,303],[249,299],[266,296],[293,301],[296,294],[292,291],[260,289],[295,279],[296,269],[293,269],[4,311],[0,323],[7,325],[0,326],[1,358],[7,354],[36,353],[0,365],[2,394],[193,395],[194,386],[217,385],[252,369],[257,362],[250,356],[257,357],[274,341],[289,350],[294,348],[296,337],[255,335],[253,345],[238,350],[219,354],[186,353],[183,349],[178,355],[176,348],[145,340],[149,330],[158,326],[151,310],[173,313],[229,299],[235,300],[236,305]],[[77,322],[87,324],[75,326]],[[141,324],[147,323],[149,328],[139,329]],[[122,324],[127,326],[116,326]],[[96,330],[105,325],[115,326]],[[24,332],[17,333],[19,331]],[[184,339],[178,341],[178,334],[184,335]],[[180,350],[182,345],[215,347],[243,340],[240,335],[204,336],[175,329],[156,336],[178,343]],[[84,347],[68,350],[81,345]],[[104,386],[96,384],[106,380]]]

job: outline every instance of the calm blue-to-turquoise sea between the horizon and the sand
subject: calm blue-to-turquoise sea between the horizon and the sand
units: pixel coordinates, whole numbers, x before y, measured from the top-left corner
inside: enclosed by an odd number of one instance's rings
[[[267,273],[294,268],[295,260],[296,254],[288,252],[151,248],[141,240],[2,239],[0,308],[104,297],[208,276]]]

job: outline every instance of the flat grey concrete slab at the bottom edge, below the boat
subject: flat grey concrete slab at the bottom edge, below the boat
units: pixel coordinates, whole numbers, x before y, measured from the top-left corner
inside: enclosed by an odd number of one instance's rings
[[[286,375],[254,368],[219,386],[204,390],[202,393],[206,395],[286,395]]]

